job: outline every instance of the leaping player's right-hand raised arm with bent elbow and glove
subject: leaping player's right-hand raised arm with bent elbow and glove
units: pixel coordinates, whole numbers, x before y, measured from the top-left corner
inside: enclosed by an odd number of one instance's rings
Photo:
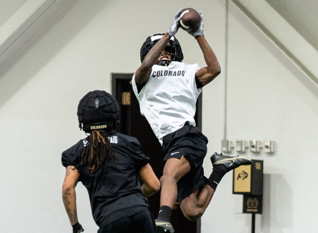
[[[200,17],[201,17],[200,26],[197,28],[197,30],[193,32],[189,32],[189,34],[192,35],[197,40],[203,52],[205,63],[207,64],[206,67],[199,69],[196,73],[197,79],[204,86],[210,83],[216,76],[218,76],[221,73],[221,68],[220,68],[218,59],[215,56],[212,48],[210,47],[210,45],[204,38],[204,35],[203,35],[204,20],[203,20],[203,14],[201,11],[200,11]]]

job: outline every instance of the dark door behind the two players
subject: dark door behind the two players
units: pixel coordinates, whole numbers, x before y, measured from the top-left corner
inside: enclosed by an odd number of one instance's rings
[[[131,85],[133,74],[112,74],[112,94],[121,106],[121,126],[119,132],[136,137],[142,144],[144,153],[150,157],[149,164],[156,176],[160,178],[163,171],[164,153],[148,121],[140,113],[139,103]],[[201,124],[201,98],[198,99],[196,121]],[[149,210],[154,218],[157,217],[160,207],[160,192],[148,198]],[[177,205],[171,215],[171,224],[176,233],[199,233],[200,220],[187,220]]]

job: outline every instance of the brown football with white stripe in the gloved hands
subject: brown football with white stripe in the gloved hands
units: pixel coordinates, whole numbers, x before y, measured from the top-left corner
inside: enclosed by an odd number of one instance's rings
[[[187,31],[192,32],[198,28],[201,22],[200,14],[193,8],[184,8],[180,14],[181,19],[179,21],[180,27]]]

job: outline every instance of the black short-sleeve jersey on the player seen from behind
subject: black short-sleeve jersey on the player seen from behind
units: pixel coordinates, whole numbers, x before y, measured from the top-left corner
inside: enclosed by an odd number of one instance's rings
[[[63,166],[78,167],[87,140],[80,140],[62,153]],[[116,158],[114,164],[108,163],[105,171],[94,174],[87,166],[79,170],[79,181],[87,188],[93,218],[99,227],[148,209],[137,174],[149,163],[149,157],[134,137],[115,133],[109,141]]]

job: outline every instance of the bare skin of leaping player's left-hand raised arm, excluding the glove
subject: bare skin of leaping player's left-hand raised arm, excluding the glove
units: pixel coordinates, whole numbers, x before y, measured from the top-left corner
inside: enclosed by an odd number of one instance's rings
[[[170,38],[171,36],[168,33],[164,34],[164,36],[147,53],[135,74],[135,81],[137,84],[143,84],[148,81],[152,66],[156,64],[158,57],[169,43]]]

